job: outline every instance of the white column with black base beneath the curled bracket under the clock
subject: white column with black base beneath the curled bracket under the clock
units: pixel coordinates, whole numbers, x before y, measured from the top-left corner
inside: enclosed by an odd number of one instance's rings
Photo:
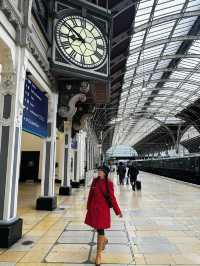
[[[66,125],[65,125],[66,127]],[[61,187],[59,189],[59,195],[71,195],[71,184],[70,184],[70,176],[71,176],[71,124],[67,125],[67,129],[65,130],[65,138],[63,143],[63,150],[61,156],[61,171],[62,171],[62,182]]]

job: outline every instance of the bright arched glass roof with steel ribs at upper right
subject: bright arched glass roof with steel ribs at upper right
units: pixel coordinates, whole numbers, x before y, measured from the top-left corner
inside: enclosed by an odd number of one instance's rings
[[[199,86],[200,0],[138,1],[113,145],[182,123],[177,114],[200,98]]]

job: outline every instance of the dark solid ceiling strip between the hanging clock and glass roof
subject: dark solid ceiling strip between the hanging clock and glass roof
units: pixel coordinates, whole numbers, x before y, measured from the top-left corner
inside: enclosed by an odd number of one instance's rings
[[[117,117],[126,72],[129,45],[133,33],[136,0],[94,0],[90,2],[108,8],[113,18],[110,101],[107,104],[96,106],[95,114],[91,120],[91,126],[100,141],[100,136],[104,135],[103,148],[107,150],[112,144],[114,132],[114,127],[110,128],[109,123]]]

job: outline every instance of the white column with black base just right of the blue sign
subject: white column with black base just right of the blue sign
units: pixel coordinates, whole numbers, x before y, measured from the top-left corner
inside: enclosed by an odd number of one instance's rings
[[[56,158],[56,114],[58,96],[52,95],[52,110],[48,121],[48,136],[43,143],[43,163],[41,197],[37,199],[37,210],[52,211],[57,208],[55,187],[55,158]]]

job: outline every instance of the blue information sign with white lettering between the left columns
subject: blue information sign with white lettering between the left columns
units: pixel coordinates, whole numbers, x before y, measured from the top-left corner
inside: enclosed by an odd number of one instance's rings
[[[23,130],[47,137],[48,98],[35,84],[26,79],[24,89]]]

